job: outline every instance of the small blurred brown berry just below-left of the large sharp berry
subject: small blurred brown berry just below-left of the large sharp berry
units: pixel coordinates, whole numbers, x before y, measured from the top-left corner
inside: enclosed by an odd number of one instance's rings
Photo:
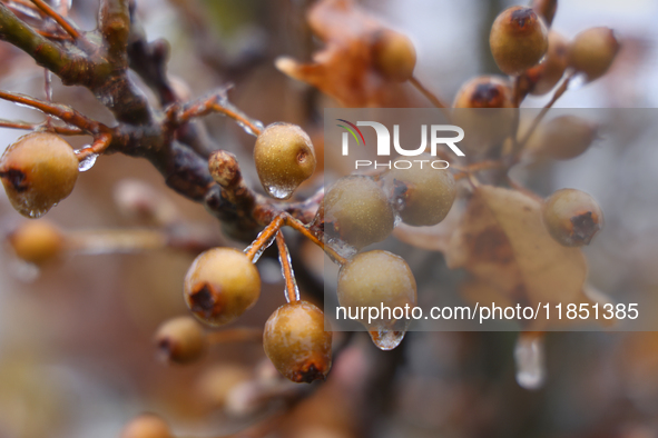
[[[161,357],[168,362],[190,364],[207,349],[204,329],[190,317],[178,317],[165,321],[155,337]]]

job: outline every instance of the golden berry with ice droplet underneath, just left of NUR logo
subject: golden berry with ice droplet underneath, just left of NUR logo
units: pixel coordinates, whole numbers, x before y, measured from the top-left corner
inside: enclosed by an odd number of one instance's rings
[[[256,139],[254,162],[267,195],[287,199],[315,171],[315,150],[298,126],[272,123]]]

